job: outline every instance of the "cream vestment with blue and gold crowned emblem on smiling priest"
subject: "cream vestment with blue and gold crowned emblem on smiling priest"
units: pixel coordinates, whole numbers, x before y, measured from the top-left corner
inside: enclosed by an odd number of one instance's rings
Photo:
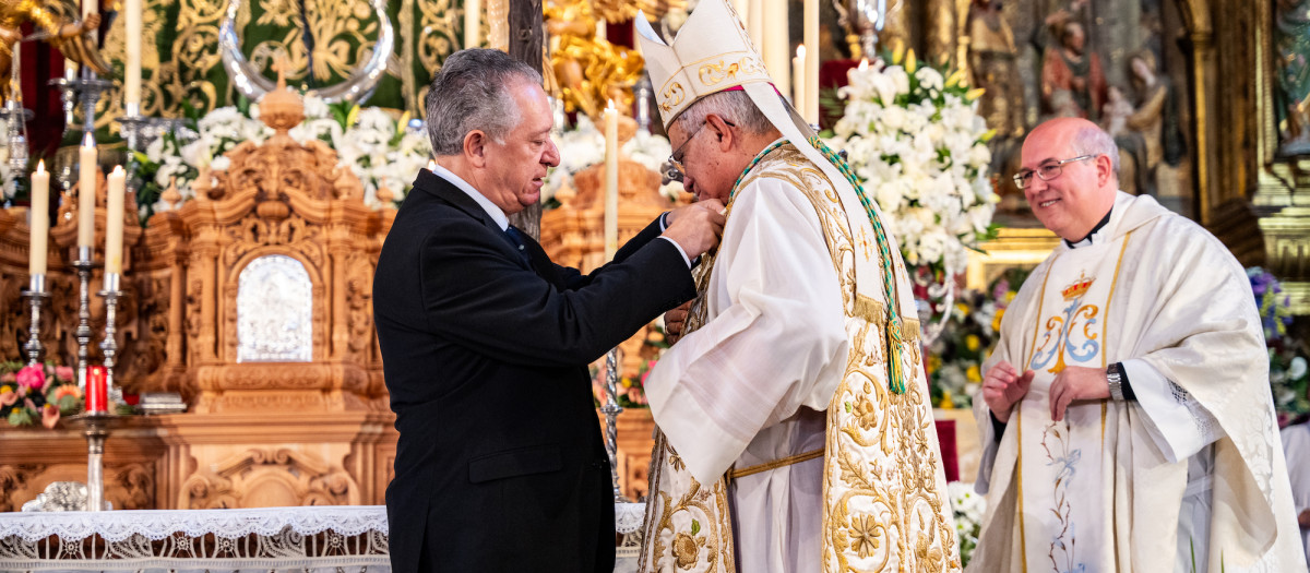
[[[1000,440],[975,399],[988,512],[969,570],[1301,570],[1259,313],[1199,225],[1120,192],[1028,276],[984,368],[1001,360],[1036,375]],[[1051,420],[1057,373],[1115,362],[1136,400]]]

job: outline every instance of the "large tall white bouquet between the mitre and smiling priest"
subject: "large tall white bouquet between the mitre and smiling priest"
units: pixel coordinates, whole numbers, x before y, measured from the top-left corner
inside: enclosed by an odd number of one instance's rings
[[[850,71],[828,144],[848,152],[905,262],[942,281],[963,272],[968,250],[994,233],[998,198],[986,177],[994,132],[976,110],[981,92],[959,72],[945,77],[913,51],[901,60]]]

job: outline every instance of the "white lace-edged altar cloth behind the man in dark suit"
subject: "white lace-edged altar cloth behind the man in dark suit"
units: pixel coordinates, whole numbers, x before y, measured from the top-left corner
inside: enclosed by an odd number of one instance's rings
[[[620,534],[645,504],[616,504]],[[0,513],[0,570],[390,572],[386,508]]]

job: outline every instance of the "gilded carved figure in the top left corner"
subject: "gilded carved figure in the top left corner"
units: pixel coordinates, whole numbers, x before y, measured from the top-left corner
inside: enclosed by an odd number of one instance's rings
[[[110,68],[100,56],[90,33],[100,27],[100,14],[90,14],[81,22],[66,22],[46,9],[39,0],[0,0],[0,99],[8,101],[18,86],[10,78],[13,69],[13,46],[22,41],[22,25],[33,26],[46,34],[46,39],[66,59],[85,65],[98,75],[107,75]]]

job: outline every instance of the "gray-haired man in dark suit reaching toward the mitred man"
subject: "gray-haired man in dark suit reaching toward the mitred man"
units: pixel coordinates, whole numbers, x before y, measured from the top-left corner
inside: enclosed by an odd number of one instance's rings
[[[723,205],[664,213],[582,275],[507,225],[559,164],[541,76],[465,50],[426,105],[438,166],[405,198],[373,279],[400,432],[392,566],[613,570],[613,489],[587,364],[696,294],[689,258],[718,243]]]

